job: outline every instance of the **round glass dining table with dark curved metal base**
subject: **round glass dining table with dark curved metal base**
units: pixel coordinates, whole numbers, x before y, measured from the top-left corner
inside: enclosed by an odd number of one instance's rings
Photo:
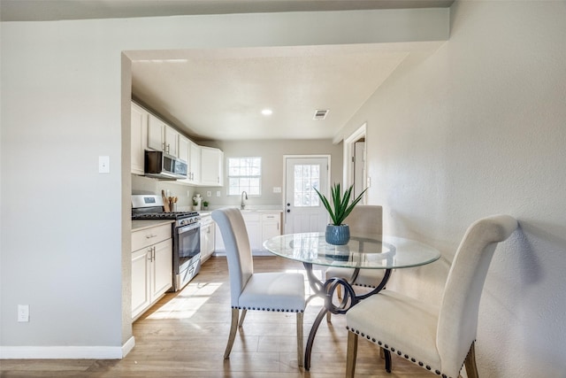
[[[386,286],[393,269],[430,264],[440,258],[440,251],[415,240],[387,235],[351,235],[348,244],[333,245],[325,242],[324,232],[278,235],[264,242],[264,248],[274,255],[301,261],[305,267],[314,295],[323,297],[325,305],[318,312],[305,347],[304,368],[310,370],[310,351],[320,322],[327,312],[343,314],[366,297],[378,293]],[[333,277],[322,282],[313,273],[312,266],[338,266],[352,268],[348,278]],[[352,282],[360,269],[382,269],[385,274],[379,285],[356,293]],[[341,298],[334,291],[341,287]],[[310,298],[309,298],[310,300]]]

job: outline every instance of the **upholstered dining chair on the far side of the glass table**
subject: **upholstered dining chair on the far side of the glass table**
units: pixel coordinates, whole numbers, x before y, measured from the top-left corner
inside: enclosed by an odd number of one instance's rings
[[[383,234],[383,208],[374,204],[358,204],[348,218],[344,220],[350,228],[352,235],[382,235]],[[330,266],[326,269],[326,280],[338,277],[350,279],[354,269],[340,266]],[[360,269],[356,280],[352,284],[366,288],[376,288],[383,279],[385,271],[382,269]],[[341,297],[340,286],[336,289],[338,297]],[[326,314],[326,320],[330,321],[331,312]]]

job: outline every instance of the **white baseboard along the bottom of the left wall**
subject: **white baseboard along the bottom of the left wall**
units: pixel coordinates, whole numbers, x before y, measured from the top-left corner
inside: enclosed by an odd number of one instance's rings
[[[123,359],[135,345],[122,346],[0,346],[0,359]]]

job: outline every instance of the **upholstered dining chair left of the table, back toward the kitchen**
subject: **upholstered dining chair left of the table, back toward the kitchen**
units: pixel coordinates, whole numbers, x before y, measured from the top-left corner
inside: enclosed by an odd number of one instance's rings
[[[297,359],[302,366],[302,315],[305,309],[304,276],[294,273],[254,273],[249,236],[240,209],[224,208],[212,212],[226,246],[232,323],[224,359],[230,351],[236,331],[248,310],[296,312]],[[241,315],[240,315],[241,310]],[[238,318],[240,317],[240,320]]]

